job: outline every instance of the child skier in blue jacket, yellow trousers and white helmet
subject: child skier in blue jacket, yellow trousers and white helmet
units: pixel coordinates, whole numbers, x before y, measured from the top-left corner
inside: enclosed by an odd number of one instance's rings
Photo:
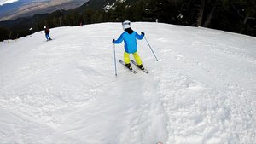
[[[145,33],[142,32],[141,35],[137,34],[137,32],[133,31],[131,29],[131,21],[125,20],[123,23],[123,29],[125,32],[123,32],[119,39],[115,40],[113,39],[112,43],[122,43],[123,40],[125,41],[125,53],[124,53],[124,60],[125,60],[125,66],[127,66],[129,69],[132,69],[131,67],[131,62],[130,62],[130,57],[129,55],[132,54],[134,59],[137,62],[138,67],[140,67],[142,70],[144,69],[143,67],[143,62],[139,55],[137,54],[137,39],[142,40]]]

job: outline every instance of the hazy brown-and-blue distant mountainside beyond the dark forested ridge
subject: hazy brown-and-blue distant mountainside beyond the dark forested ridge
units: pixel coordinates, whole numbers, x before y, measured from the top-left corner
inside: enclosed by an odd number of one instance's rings
[[[0,0],[0,20],[15,20],[33,14],[51,13],[58,9],[73,9],[85,2],[87,0]]]

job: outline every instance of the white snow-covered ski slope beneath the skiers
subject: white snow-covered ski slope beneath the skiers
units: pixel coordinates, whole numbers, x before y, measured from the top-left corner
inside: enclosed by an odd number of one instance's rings
[[[256,38],[136,22],[150,72],[117,62],[120,23],[0,43],[0,143],[256,143]],[[115,45],[123,59],[123,43]],[[133,59],[131,55],[131,59]]]

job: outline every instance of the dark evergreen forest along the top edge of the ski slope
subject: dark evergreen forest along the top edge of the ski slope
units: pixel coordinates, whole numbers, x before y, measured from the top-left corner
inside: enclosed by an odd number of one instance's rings
[[[202,26],[228,32],[256,36],[256,2],[255,0],[136,0],[134,3],[123,3],[118,0],[110,9],[84,9],[63,14],[55,11],[52,16],[40,20],[32,30],[20,30],[19,37],[58,26],[79,26],[101,23],[150,21],[162,23]],[[10,30],[0,27],[1,39],[7,39],[2,33],[9,35]],[[11,39],[15,39],[15,34]]]

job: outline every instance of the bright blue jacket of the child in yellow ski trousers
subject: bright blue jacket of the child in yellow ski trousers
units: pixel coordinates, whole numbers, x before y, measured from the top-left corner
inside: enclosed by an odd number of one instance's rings
[[[137,34],[137,32],[135,31],[132,31],[131,34],[129,34],[128,32],[123,32],[119,39],[113,41],[113,43],[122,43],[123,40],[125,40],[125,52],[126,53],[129,53],[129,54],[132,54],[132,53],[135,53],[137,52],[137,40],[141,40],[143,39],[144,35],[139,35]]]

